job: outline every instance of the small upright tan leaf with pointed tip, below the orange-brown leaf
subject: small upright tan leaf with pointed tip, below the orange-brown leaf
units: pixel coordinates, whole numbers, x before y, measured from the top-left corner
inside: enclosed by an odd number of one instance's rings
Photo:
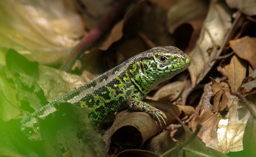
[[[225,66],[225,69],[228,72],[228,83],[232,92],[235,92],[238,89],[246,75],[245,65],[246,62],[244,60],[239,59],[234,55],[230,64]]]

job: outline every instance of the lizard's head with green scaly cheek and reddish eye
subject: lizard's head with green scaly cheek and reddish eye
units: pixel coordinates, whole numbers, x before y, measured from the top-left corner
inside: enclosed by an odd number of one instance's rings
[[[155,47],[143,52],[140,59],[140,81],[145,89],[152,89],[162,81],[188,68],[191,58],[176,47]]]

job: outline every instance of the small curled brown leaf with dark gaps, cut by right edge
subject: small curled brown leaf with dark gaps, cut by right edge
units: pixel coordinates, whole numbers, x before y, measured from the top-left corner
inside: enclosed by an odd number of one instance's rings
[[[242,85],[238,88],[237,92],[247,95],[256,93],[256,70],[252,72],[249,77],[242,80]]]

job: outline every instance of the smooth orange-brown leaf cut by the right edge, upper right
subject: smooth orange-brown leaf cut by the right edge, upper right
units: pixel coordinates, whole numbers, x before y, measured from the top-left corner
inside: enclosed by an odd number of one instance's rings
[[[245,36],[240,39],[231,40],[230,47],[242,59],[247,60],[256,69],[255,37]]]

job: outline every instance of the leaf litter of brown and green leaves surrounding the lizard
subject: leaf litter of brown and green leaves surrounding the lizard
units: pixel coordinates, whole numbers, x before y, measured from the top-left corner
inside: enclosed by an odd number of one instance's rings
[[[188,70],[160,83],[147,97],[156,100],[150,104],[167,115],[170,126],[159,130],[147,114],[123,110],[99,128],[93,128],[84,116],[86,109],[60,104],[58,112],[40,120],[43,141],[25,140],[24,154],[21,146],[11,149],[15,140],[5,138],[0,141],[1,155],[255,154],[254,1],[247,0],[246,7],[235,0],[130,2],[100,40],[81,47],[86,51],[69,67],[75,73],[70,74],[41,64],[60,67],[68,52],[82,41],[81,37],[102,24],[100,21],[116,9],[114,6],[120,6],[111,0],[72,2],[17,3],[17,12],[27,12],[22,16],[1,10],[1,30],[9,33],[2,32],[0,38],[0,56],[5,58],[7,54],[6,60],[0,59],[2,136],[10,137],[7,130],[14,129],[17,141],[24,141],[26,137],[17,130],[18,114],[38,109],[139,52],[167,45],[177,46],[192,58]],[[7,8],[13,3],[9,1]],[[43,7],[46,4],[50,9]],[[3,6],[1,3],[0,7]],[[21,19],[25,21],[22,23]],[[31,26],[38,19],[46,20],[51,27],[42,23],[36,23],[37,28]],[[27,30],[31,27],[34,34],[29,36]],[[28,60],[18,62],[22,57],[8,58],[9,48],[39,65]],[[22,66],[24,63],[30,67]],[[43,147],[41,151],[37,151],[38,143]]]

